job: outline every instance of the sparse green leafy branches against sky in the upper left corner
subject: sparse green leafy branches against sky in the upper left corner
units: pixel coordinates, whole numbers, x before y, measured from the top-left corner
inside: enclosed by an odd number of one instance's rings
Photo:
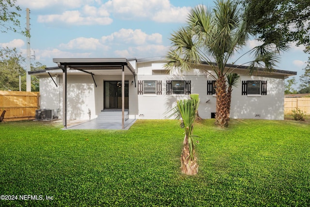
[[[18,32],[20,30],[20,7],[16,5],[16,0],[0,0],[0,31],[7,32],[9,30]],[[20,31],[19,33],[27,36],[29,32]]]

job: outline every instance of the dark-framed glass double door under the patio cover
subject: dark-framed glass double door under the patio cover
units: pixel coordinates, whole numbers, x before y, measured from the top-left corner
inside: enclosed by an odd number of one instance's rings
[[[128,109],[128,81],[125,83],[125,109]],[[122,109],[122,81],[104,82],[104,109]]]

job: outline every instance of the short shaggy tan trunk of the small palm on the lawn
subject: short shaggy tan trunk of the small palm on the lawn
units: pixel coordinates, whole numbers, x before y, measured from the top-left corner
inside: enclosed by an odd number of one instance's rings
[[[198,164],[195,156],[195,150],[193,150],[193,157],[194,160],[191,160],[189,156],[188,137],[185,135],[181,155],[181,171],[185,175],[196,175],[198,173]]]

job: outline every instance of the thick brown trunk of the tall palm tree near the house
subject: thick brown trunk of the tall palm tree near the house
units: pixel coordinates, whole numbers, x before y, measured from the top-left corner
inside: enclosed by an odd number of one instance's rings
[[[226,80],[225,76],[219,76],[216,81],[217,91],[217,109],[215,124],[219,127],[228,127],[229,110],[227,108],[227,93],[226,93]]]

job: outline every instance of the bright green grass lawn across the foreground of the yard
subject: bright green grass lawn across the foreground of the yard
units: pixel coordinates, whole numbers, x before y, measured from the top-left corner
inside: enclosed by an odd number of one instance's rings
[[[128,131],[0,124],[0,194],[18,196],[0,206],[310,206],[309,122],[213,122],[194,130],[196,176],[180,173],[174,120],[138,120]]]

